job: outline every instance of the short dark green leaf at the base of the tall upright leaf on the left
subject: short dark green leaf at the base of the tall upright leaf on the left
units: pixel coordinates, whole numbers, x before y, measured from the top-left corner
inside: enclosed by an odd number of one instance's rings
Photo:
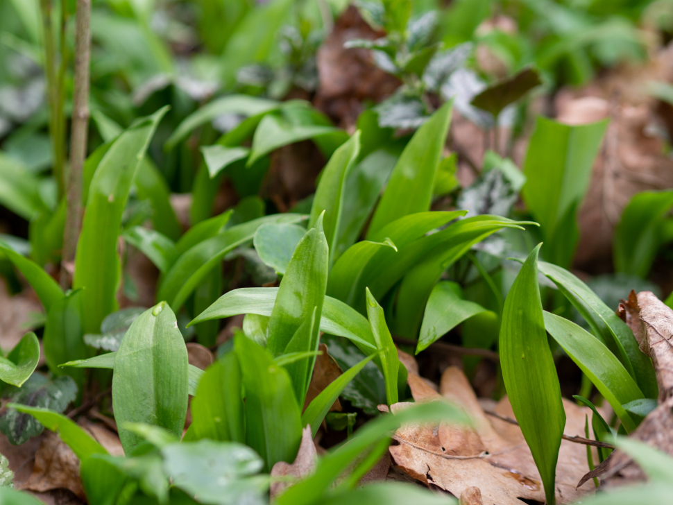
[[[70,291],[54,303],[46,315],[44,335],[44,359],[54,375],[67,373],[81,388],[84,384],[83,370],[60,370],[58,366],[65,361],[85,359],[87,348],[82,332],[83,291]],[[90,355],[90,354],[89,354]]]

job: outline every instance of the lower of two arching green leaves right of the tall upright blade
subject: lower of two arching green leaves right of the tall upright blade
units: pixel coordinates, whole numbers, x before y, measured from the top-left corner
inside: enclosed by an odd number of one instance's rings
[[[642,393],[622,363],[603,343],[572,321],[546,311],[544,318],[547,332],[608,400],[627,432],[633,431],[638,423],[622,405],[639,400]]]

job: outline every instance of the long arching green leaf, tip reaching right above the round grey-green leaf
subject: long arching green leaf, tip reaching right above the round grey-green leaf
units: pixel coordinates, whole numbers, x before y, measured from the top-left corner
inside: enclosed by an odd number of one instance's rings
[[[302,219],[303,216],[295,214],[266,216],[232,226],[215,237],[198,243],[181,255],[168,271],[157,298],[167,300],[177,310],[227,253],[255,237],[259,226],[265,223],[296,223]]]

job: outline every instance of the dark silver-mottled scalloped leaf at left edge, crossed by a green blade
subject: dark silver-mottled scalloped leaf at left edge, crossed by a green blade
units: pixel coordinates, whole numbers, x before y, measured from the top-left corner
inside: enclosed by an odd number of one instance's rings
[[[77,396],[77,385],[71,377],[58,377],[52,381],[33,373],[21,388],[10,387],[3,391],[3,397],[10,402],[26,406],[37,406],[51,411],[62,412]],[[42,425],[28,414],[8,409],[0,416],[0,431],[14,445],[25,443],[31,436],[42,433]]]

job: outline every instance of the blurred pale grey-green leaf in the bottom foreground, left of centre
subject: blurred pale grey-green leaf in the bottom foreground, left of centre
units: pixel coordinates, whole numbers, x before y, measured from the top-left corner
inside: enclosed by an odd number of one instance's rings
[[[269,477],[264,461],[241,443],[199,440],[163,447],[164,470],[173,486],[203,504],[264,505]],[[172,503],[172,502],[171,502]]]

